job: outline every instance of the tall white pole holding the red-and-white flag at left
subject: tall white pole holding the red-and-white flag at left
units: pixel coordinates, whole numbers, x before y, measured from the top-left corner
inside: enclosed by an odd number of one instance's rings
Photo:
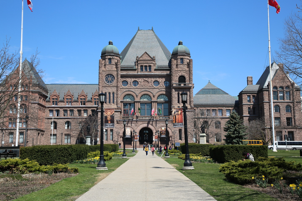
[[[19,65],[19,85],[18,85],[18,109],[17,109],[17,125],[16,125],[16,146],[18,146],[19,137],[19,121],[20,121],[20,92],[21,92],[21,76],[22,76],[22,49],[23,49],[23,5],[22,0],[22,17],[21,17],[21,46],[20,46],[20,65]],[[26,139],[25,139],[26,140]]]

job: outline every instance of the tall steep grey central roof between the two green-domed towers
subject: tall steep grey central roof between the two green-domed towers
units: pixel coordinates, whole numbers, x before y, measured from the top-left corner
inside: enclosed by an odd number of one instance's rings
[[[128,45],[120,53],[121,67],[135,67],[136,56],[140,57],[147,52],[155,56],[156,65],[170,66],[170,51],[153,30],[138,30]]]

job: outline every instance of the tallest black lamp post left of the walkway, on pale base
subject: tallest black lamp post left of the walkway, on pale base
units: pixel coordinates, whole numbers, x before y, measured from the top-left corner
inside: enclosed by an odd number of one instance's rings
[[[104,102],[105,94],[103,92],[98,94],[98,100],[101,104],[101,136],[100,136],[100,160],[98,161],[98,166],[96,169],[108,170],[104,160]]]

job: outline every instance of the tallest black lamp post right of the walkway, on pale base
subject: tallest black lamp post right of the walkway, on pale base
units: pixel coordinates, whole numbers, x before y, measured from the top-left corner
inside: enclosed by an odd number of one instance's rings
[[[182,104],[183,104],[183,122],[184,122],[184,129],[185,129],[185,146],[186,146],[185,162],[183,163],[182,169],[187,170],[187,169],[194,169],[194,167],[192,166],[192,162],[190,161],[190,154],[189,154],[187,114],[186,114],[187,93],[182,92],[180,96],[182,97]]]

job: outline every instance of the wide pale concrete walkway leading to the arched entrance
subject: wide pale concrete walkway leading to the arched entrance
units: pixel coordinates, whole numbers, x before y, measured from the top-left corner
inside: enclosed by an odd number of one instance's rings
[[[138,150],[76,201],[215,200],[162,158]]]

